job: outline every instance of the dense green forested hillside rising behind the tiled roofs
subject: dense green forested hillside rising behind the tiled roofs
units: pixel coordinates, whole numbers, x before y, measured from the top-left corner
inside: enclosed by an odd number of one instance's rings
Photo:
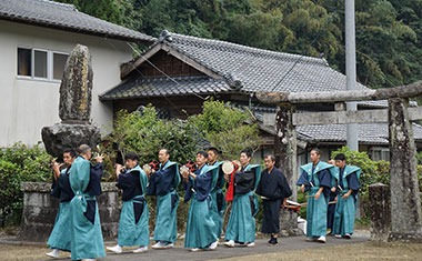
[[[269,50],[323,56],[344,72],[344,1],[60,0],[158,37],[161,30]],[[355,0],[358,81],[422,80],[422,0]]]

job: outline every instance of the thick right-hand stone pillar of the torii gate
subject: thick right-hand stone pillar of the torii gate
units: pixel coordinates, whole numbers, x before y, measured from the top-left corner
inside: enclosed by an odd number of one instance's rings
[[[422,241],[416,151],[408,107],[409,99],[389,99],[392,241]]]

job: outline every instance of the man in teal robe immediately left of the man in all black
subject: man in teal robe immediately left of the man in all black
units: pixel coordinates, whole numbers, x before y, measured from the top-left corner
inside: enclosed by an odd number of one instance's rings
[[[258,199],[254,190],[258,187],[261,167],[250,164],[252,151],[242,150],[240,153],[240,171],[234,173],[234,198],[232,202],[229,223],[225,230],[224,245],[233,248],[234,243],[245,247],[255,245],[255,218],[258,212]],[[227,177],[227,180],[230,180]]]

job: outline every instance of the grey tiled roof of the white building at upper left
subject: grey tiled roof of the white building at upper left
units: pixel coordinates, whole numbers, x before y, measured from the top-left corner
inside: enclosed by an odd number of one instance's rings
[[[0,19],[132,42],[157,40],[144,33],[79,12],[72,4],[48,0],[1,0]]]

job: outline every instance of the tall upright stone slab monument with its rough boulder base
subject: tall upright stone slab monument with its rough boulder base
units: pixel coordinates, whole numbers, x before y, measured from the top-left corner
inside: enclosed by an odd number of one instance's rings
[[[94,148],[101,139],[99,128],[90,123],[92,66],[88,48],[77,44],[64,66],[60,86],[60,123],[41,130],[46,150],[61,158],[67,148],[84,143]]]

